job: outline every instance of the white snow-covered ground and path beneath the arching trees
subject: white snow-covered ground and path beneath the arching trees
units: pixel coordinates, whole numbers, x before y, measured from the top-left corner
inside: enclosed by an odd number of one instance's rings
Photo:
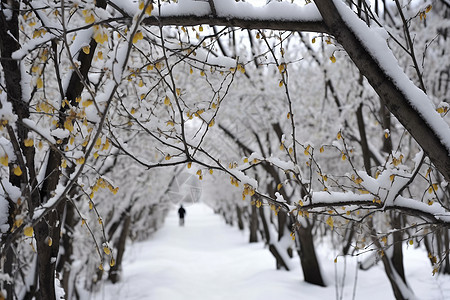
[[[303,282],[298,258],[293,259],[292,271],[276,271],[275,261],[262,243],[249,244],[247,234],[227,226],[208,206],[199,203],[186,210],[185,227],[178,226],[174,209],[164,227],[148,241],[129,244],[121,282],[104,283],[91,299],[394,298],[381,264],[369,271],[358,270],[355,276],[356,258],[339,257],[335,264],[332,250],[319,246],[328,287],[313,286]],[[450,299],[450,276],[432,276],[425,253],[405,249],[405,261],[418,299]]]

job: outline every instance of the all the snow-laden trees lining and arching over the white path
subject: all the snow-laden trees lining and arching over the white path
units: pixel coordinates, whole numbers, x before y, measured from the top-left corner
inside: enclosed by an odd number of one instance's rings
[[[183,172],[312,284],[331,233],[398,299],[404,241],[450,272],[445,1],[179,2],[1,2],[6,299],[118,281]]]

